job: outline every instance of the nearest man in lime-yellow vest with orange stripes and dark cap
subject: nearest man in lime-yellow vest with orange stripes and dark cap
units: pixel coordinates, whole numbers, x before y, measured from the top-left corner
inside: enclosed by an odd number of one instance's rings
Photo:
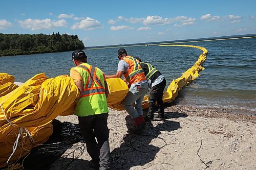
[[[109,95],[104,72],[87,63],[87,56],[81,50],[72,53],[76,67],[71,68],[70,77],[77,85],[80,96],[76,102],[75,115],[86,141],[86,149],[92,160],[90,167],[110,169],[109,109],[106,96]],[[95,140],[97,138],[97,141]]]

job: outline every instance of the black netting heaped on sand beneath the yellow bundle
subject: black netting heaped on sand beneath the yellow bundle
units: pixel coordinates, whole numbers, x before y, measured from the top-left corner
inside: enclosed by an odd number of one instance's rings
[[[81,130],[77,124],[61,123],[54,119],[53,134],[44,144],[31,150],[30,155],[24,160],[24,167],[25,169],[49,169],[50,164],[67,150],[70,150],[70,152],[66,156],[72,157],[70,154],[77,148],[79,149],[79,147],[72,149],[72,145],[82,140]],[[83,148],[80,147],[80,149],[82,154]]]

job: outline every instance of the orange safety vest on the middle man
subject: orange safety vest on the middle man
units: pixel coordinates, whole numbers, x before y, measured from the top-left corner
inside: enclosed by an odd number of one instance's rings
[[[129,85],[146,80],[144,71],[137,59],[126,56],[122,60],[129,64],[129,69],[123,75],[127,82],[129,82]]]

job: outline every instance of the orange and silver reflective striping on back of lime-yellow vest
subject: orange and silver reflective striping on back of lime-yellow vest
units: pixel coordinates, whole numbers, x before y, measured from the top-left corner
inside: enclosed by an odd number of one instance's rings
[[[105,93],[105,88],[103,87],[102,82],[96,76],[96,67],[92,66],[91,71],[90,71],[90,69],[88,69],[86,66],[83,66],[83,65],[79,65],[77,67],[81,67],[81,68],[85,69],[89,74],[87,83],[86,83],[86,85],[84,85],[82,97],[94,95],[94,94],[104,94]],[[93,76],[92,76],[92,74],[93,74]],[[97,87],[93,87],[95,83],[98,85]]]

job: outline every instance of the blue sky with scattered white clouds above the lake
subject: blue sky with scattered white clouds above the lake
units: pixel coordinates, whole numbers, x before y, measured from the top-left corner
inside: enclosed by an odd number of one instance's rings
[[[76,34],[85,46],[256,33],[255,0],[0,2],[4,34]]]

